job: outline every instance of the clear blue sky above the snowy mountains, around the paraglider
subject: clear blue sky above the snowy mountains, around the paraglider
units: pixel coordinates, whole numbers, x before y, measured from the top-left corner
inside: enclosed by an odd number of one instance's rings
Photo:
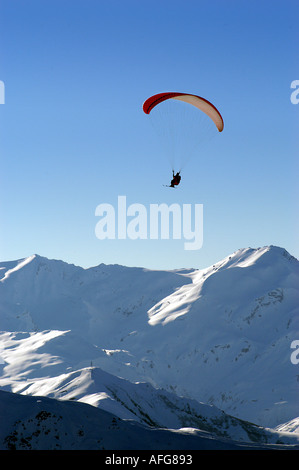
[[[297,0],[2,0],[0,259],[203,268],[243,247],[299,256]],[[142,112],[204,96],[225,128],[170,190]],[[203,204],[203,247],[103,240],[101,203]]]

